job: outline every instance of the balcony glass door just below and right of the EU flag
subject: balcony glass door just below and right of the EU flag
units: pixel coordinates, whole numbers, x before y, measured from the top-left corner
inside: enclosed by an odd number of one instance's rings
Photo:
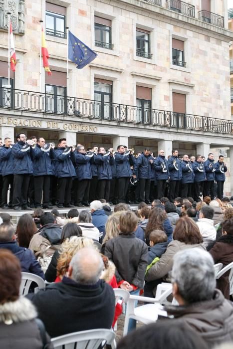
[[[112,81],[94,80],[95,116],[112,119]]]

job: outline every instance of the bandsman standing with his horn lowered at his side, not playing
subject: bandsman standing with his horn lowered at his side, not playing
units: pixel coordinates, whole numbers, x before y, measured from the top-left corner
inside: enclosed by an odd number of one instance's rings
[[[139,179],[139,201],[145,201],[150,204],[150,185],[152,174],[152,165],[154,164],[154,158],[151,155],[150,148],[145,148],[143,154],[141,154],[135,164],[133,170],[133,177]]]

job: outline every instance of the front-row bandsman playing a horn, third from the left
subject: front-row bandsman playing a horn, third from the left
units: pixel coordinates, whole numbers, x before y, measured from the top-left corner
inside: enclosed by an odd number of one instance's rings
[[[45,140],[39,137],[36,147],[32,149],[32,168],[34,176],[34,202],[35,207],[41,207],[43,196],[43,208],[52,208],[49,204],[50,176],[52,175],[51,158],[55,157],[51,145],[44,148]]]

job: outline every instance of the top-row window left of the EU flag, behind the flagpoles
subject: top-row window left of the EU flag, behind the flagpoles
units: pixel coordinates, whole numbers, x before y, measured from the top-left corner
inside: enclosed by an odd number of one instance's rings
[[[46,2],[46,34],[66,37],[65,11],[66,8]]]

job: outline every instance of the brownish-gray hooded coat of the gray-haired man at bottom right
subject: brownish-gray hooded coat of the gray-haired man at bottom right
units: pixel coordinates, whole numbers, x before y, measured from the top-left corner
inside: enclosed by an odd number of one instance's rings
[[[187,306],[165,306],[165,310],[168,315],[173,315],[192,328],[208,348],[233,341],[233,304],[219,290],[215,291],[210,301]]]

